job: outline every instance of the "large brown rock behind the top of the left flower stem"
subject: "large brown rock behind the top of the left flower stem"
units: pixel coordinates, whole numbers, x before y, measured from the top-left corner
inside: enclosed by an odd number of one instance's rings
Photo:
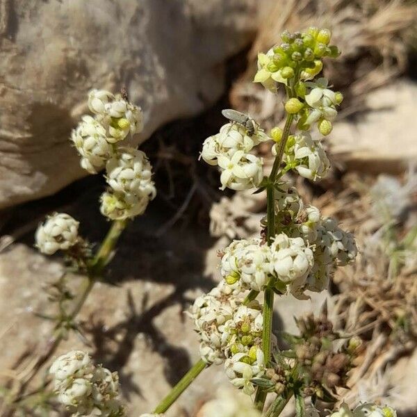
[[[255,0],[0,0],[0,208],[85,174],[68,142],[90,88],[145,112],[142,141],[223,90],[250,40]]]

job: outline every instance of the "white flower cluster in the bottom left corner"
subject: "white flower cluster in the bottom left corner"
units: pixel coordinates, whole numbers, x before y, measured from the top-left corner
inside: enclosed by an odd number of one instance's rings
[[[95,366],[88,354],[74,350],[58,357],[49,373],[54,376],[58,400],[74,416],[125,416],[117,400],[117,373]]]

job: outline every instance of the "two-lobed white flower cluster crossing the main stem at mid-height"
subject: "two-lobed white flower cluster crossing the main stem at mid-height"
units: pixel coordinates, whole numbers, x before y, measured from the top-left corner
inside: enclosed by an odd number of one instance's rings
[[[281,233],[270,246],[260,239],[234,240],[224,250],[220,272],[229,285],[262,291],[273,277],[293,293],[304,288],[312,266],[313,252],[304,240]]]

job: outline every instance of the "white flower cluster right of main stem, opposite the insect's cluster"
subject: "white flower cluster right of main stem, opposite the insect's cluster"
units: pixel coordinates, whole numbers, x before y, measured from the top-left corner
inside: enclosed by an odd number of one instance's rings
[[[278,144],[272,147],[272,154],[277,155],[277,147]],[[288,138],[284,162],[302,177],[313,181],[324,178],[330,168],[320,140],[313,140],[307,132]]]

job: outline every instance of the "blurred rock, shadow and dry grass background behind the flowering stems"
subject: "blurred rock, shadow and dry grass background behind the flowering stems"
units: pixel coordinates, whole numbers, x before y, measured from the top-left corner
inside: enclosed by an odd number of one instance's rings
[[[252,83],[256,54],[284,29],[306,26],[332,30],[342,55],[327,61],[325,76],[345,100],[326,139],[331,174],[297,186],[354,232],[361,254],[327,293],[277,300],[275,332],[294,331],[293,316],[327,299],[336,328],[366,342],[345,398],[417,416],[413,0],[0,0],[1,387],[24,377],[51,332],[34,313],[51,310],[48,288],[64,267],[33,248],[38,223],[69,213],[92,243],[108,229],[98,204],[104,179],[85,177],[69,141],[91,88],[126,86],[142,107],[136,142],[152,161],[158,196],[88,298],[82,337],[73,334],[58,353],[88,350],[118,370],[131,416],[152,409],[198,359],[183,311],[220,279],[217,250],[259,234],[265,212],[262,194],[221,193],[199,151],[224,124],[222,108],[250,113],[265,129],[281,123],[284,96]],[[268,146],[261,152],[268,169]],[[193,416],[228,384],[221,367],[206,372],[167,416]]]

